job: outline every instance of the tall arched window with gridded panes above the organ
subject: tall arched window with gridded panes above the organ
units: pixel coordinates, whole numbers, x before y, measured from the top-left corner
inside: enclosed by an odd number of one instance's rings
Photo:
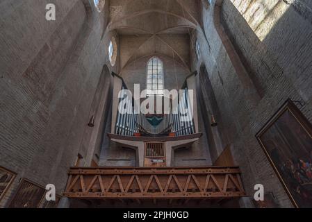
[[[163,95],[163,62],[153,57],[147,62],[147,94]]]

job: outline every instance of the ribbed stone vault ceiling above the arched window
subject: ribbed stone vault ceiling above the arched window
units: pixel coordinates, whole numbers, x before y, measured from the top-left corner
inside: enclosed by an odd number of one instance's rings
[[[197,0],[110,0],[108,30],[130,43],[121,49],[120,70],[152,55],[174,58],[190,69],[190,33],[198,21]]]

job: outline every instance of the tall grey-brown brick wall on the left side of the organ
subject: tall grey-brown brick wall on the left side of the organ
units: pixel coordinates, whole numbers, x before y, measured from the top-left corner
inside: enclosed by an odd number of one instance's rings
[[[55,22],[45,19],[47,3],[56,5]],[[106,15],[85,0],[5,0],[0,12],[0,165],[17,173],[3,207],[19,178],[62,194],[77,153],[86,157],[81,139],[92,130],[86,124],[112,34],[104,35]]]

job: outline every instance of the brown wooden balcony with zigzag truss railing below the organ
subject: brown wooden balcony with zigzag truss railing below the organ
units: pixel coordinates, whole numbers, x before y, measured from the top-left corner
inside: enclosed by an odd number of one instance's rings
[[[245,196],[238,167],[71,168],[65,196],[170,200]]]

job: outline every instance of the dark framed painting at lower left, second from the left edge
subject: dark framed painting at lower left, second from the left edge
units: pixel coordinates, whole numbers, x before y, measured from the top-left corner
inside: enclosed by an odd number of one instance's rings
[[[22,178],[17,191],[10,202],[9,208],[38,208],[46,189],[44,187]]]

